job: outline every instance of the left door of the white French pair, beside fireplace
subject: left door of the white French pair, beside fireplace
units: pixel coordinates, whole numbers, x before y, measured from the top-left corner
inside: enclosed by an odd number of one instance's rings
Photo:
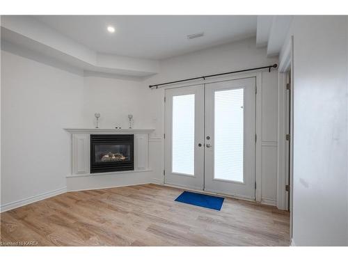
[[[203,85],[166,90],[166,184],[204,189]]]

